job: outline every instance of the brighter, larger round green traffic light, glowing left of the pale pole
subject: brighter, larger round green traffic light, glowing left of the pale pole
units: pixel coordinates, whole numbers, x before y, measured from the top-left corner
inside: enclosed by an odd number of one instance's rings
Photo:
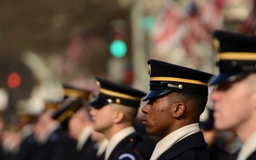
[[[122,58],[127,53],[127,45],[122,40],[115,40],[110,44],[110,53],[115,58]]]

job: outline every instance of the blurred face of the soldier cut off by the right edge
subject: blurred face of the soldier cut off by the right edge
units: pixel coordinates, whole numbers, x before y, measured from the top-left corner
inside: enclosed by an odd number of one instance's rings
[[[210,95],[214,101],[215,127],[240,132],[250,128],[252,115],[256,116],[256,75],[216,86]]]

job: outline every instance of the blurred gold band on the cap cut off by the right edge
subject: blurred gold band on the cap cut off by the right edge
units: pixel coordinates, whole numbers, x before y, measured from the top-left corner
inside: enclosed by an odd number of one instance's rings
[[[256,60],[256,53],[224,52],[218,57],[221,60]]]

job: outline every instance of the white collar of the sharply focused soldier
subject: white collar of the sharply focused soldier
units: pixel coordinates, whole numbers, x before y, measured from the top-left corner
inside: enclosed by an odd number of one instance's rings
[[[185,127],[181,127],[180,129],[177,129],[174,132],[171,132],[156,144],[156,147],[150,159],[151,160],[157,159],[159,156],[161,156],[161,154],[164,153],[164,151],[166,151],[171,146],[176,144],[176,142],[179,142],[181,139],[188,137],[189,135],[199,131],[200,129],[198,127],[198,123],[196,123],[196,124],[189,124]]]

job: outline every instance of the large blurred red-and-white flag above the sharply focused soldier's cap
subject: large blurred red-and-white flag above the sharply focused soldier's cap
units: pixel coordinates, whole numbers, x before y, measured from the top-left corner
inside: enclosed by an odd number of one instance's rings
[[[210,41],[210,34],[223,27],[222,9],[225,0],[165,1],[151,31],[151,40],[156,50],[166,52],[172,46],[183,45],[188,55],[189,48],[197,41]]]

